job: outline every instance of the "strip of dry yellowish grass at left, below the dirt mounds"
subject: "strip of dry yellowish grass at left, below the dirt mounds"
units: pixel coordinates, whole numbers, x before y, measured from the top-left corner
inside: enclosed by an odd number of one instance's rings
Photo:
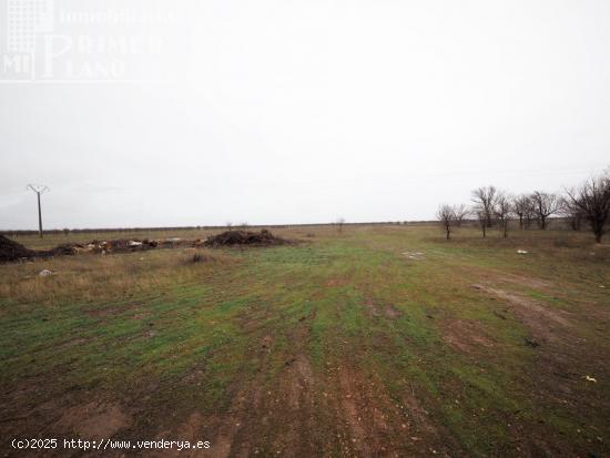
[[[200,262],[193,262],[199,256]],[[14,303],[52,304],[129,297],[195,281],[235,259],[207,250],[157,251],[119,255],[61,256],[0,265],[0,297]],[[40,276],[49,269],[52,275]]]

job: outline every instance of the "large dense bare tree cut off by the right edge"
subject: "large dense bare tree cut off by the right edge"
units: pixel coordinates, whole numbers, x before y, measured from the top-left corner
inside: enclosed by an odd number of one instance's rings
[[[571,205],[580,208],[591,224],[596,242],[601,243],[610,217],[610,173],[589,179],[567,194]]]

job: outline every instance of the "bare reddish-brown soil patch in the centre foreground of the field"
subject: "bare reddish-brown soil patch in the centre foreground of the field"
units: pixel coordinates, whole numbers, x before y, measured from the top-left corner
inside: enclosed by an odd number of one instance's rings
[[[305,356],[315,316],[301,320],[288,336],[285,363],[268,380],[274,339],[264,335],[252,347],[258,369],[235,386],[224,413],[187,414],[160,434],[211,441],[211,449],[191,455],[214,458],[282,456],[404,457],[443,456],[449,445],[415,397],[405,389],[394,400],[380,377],[345,363],[313,367]],[[189,381],[196,375],[190,374]],[[333,425],[329,434],[328,425]],[[167,454],[166,456],[173,456]],[[177,455],[175,455],[177,456]]]

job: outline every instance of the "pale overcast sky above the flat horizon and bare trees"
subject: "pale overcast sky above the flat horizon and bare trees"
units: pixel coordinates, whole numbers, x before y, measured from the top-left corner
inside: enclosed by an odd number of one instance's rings
[[[125,4],[169,19],[60,18]],[[73,39],[162,44],[69,51],[77,67],[119,59],[110,81],[64,81],[63,55],[48,80],[0,83],[0,228],[37,226],[32,182],[51,187],[49,228],[366,222],[610,165],[608,0],[53,8]]]

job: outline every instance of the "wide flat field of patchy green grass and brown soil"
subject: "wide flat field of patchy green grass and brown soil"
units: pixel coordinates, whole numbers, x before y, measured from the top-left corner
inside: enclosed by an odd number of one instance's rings
[[[80,437],[210,440],[175,454],[209,457],[610,455],[608,244],[274,233],[301,242],[197,264],[181,248],[1,265],[1,450]]]

